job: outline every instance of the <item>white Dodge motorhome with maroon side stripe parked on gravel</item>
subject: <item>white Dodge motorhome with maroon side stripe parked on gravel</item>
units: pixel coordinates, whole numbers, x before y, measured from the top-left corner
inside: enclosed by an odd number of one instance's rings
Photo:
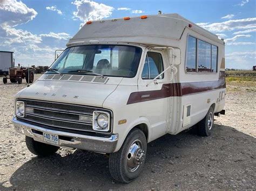
[[[177,15],[87,22],[48,72],[15,97],[13,123],[40,156],[59,147],[109,154],[130,182],[147,143],[225,114],[224,41]]]

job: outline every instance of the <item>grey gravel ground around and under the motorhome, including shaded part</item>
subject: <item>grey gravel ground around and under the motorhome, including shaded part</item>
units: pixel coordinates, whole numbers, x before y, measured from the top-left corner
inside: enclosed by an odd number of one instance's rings
[[[256,189],[255,91],[228,92],[226,115],[216,117],[211,137],[183,132],[148,144],[142,175],[125,185],[111,179],[102,154],[64,148],[47,158],[31,154],[11,124],[14,95],[25,86],[0,77],[0,190]]]

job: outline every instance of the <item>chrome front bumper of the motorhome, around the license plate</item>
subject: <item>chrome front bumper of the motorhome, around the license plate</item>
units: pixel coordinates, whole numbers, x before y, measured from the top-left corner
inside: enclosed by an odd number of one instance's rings
[[[59,138],[59,146],[79,148],[98,153],[112,153],[116,148],[118,140],[118,135],[111,135],[110,137],[105,138],[45,129],[36,125],[18,121],[16,117],[12,118],[12,123],[14,123],[16,131],[24,134],[25,136],[32,137],[37,142],[45,143],[43,139],[43,132],[51,133],[70,138],[70,141]]]

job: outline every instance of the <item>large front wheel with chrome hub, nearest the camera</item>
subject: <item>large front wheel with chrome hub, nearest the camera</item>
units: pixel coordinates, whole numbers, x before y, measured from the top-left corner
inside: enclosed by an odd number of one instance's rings
[[[147,141],[144,133],[133,129],[119,151],[110,154],[109,170],[112,178],[129,183],[139,176],[145,164]]]

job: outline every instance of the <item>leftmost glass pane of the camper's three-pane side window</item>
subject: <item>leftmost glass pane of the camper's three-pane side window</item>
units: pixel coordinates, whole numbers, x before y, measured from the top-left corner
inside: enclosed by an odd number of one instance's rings
[[[197,72],[197,39],[188,36],[187,41],[187,72]]]

